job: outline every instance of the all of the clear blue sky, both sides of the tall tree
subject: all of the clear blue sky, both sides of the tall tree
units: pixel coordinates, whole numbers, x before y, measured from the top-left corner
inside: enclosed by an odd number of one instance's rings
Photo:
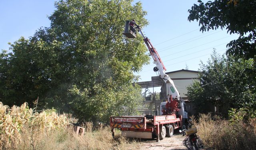
[[[140,0],[148,12],[149,25],[143,32],[156,50],[166,72],[185,69],[198,70],[200,61],[206,63],[213,48],[223,54],[226,44],[237,35],[227,34],[226,30],[199,31],[198,22],[188,21],[188,9],[197,0]],[[134,0],[134,3],[138,0]],[[24,36],[28,38],[40,27],[50,26],[47,16],[54,11],[53,0],[2,0],[0,1],[0,49],[8,50],[8,42]],[[138,23],[139,24],[139,23]],[[140,81],[151,80],[156,76],[151,63],[138,73]]]

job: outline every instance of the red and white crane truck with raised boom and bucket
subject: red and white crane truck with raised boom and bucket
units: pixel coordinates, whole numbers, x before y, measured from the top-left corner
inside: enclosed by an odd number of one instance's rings
[[[112,128],[113,137],[115,128],[119,128],[124,137],[156,138],[158,142],[159,139],[166,136],[171,137],[175,129],[184,127],[186,120],[188,120],[188,112],[184,100],[180,97],[170,76],[165,73],[166,68],[148,37],[144,36],[142,29],[134,20],[126,21],[123,34],[127,38],[136,38],[136,31],[142,35],[154,64],[156,64],[153,70],[159,72],[160,78],[166,83],[167,100],[160,104],[160,115],[111,116],[110,127]]]

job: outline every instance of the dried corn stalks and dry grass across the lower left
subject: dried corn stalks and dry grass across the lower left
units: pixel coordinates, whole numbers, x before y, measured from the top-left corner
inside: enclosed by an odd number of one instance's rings
[[[110,128],[93,130],[90,122],[84,124],[84,136],[78,136],[65,115],[50,110],[33,113],[26,103],[9,109],[0,102],[0,117],[3,150],[136,150],[140,146],[120,134],[114,140]]]

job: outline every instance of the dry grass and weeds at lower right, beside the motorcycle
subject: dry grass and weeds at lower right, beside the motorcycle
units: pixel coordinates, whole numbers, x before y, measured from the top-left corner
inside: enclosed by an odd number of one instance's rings
[[[249,123],[230,122],[216,117],[213,120],[210,114],[200,114],[194,124],[205,146],[216,150],[256,149],[255,118],[249,120]]]

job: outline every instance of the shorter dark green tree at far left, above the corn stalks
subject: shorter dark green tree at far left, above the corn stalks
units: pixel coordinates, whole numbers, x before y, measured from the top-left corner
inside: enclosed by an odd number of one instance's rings
[[[0,54],[0,100],[9,106],[32,102],[50,89],[51,46],[23,37]]]

